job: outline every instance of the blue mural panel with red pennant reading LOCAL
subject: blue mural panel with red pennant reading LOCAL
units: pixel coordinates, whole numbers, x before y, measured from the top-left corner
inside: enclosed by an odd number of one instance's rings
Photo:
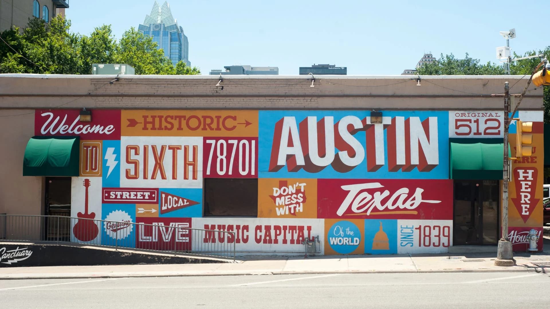
[[[158,217],[202,217],[202,189],[158,189]]]

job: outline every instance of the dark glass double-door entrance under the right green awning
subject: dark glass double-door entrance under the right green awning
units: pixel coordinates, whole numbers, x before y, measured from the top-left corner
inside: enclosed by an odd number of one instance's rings
[[[455,180],[453,244],[496,245],[499,201],[498,180]]]

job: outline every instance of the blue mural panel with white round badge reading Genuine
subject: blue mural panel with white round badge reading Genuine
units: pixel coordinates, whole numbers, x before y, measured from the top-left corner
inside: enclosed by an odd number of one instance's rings
[[[103,246],[135,247],[136,222],[135,204],[102,204],[101,244]],[[114,223],[111,221],[119,222]],[[124,223],[128,222],[128,223]]]

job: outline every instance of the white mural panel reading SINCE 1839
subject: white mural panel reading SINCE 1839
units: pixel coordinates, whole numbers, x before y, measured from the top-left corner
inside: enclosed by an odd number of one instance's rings
[[[453,245],[453,220],[397,220],[398,253],[446,253]]]

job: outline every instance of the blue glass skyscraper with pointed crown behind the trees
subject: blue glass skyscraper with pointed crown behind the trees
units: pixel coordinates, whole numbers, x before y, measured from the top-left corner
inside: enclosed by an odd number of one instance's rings
[[[164,56],[170,58],[174,65],[183,60],[191,66],[189,42],[183,34],[183,28],[178,26],[173,18],[168,2],[164,2],[161,7],[155,1],[151,14],[145,16],[145,21],[139,25],[138,30],[144,35],[151,36],[153,41],[157,42],[158,48],[163,49]]]

